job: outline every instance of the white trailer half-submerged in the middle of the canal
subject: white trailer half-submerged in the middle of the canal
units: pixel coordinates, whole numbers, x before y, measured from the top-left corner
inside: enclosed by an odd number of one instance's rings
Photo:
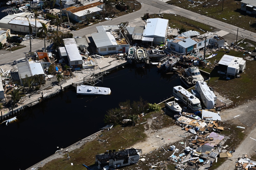
[[[77,95],[110,95],[111,90],[107,87],[96,87],[88,85],[79,85],[76,88]]]

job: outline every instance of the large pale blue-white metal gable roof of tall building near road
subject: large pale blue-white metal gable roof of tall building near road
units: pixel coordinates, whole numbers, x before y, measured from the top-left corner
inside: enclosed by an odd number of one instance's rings
[[[147,25],[146,28],[144,29],[143,36],[165,37],[167,27],[168,19],[150,18],[147,20]]]

